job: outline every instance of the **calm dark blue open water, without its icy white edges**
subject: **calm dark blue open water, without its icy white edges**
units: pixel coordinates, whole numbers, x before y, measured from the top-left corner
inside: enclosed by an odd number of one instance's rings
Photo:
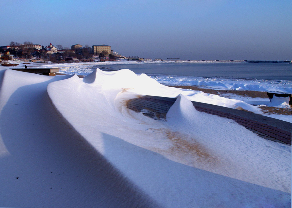
[[[292,80],[292,64],[282,63],[163,63],[94,66],[102,70],[130,69],[147,75]]]

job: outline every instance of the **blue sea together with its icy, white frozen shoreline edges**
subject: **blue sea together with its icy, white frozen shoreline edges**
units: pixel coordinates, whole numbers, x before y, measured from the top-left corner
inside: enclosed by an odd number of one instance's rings
[[[105,71],[130,69],[136,74],[145,73],[164,85],[199,85],[216,89],[292,93],[290,63],[106,61],[66,66],[60,68],[60,72],[88,75],[96,68]]]

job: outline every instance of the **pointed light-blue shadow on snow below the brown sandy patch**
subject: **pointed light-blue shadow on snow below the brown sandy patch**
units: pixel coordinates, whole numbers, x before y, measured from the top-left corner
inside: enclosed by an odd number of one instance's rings
[[[162,206],[290,206],[289,193],[183,165],[109,134],[102,138],[105,158]]]

